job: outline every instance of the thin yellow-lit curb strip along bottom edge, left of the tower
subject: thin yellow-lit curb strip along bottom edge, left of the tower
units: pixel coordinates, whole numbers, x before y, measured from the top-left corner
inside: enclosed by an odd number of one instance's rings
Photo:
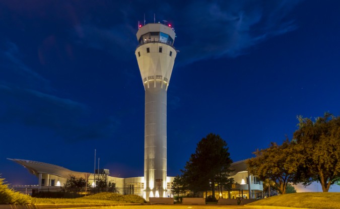
[[[0,204],[0,209],[61,209],[61,208],[96,208],[112,206],[142,205],[139,203],[116,204]]]

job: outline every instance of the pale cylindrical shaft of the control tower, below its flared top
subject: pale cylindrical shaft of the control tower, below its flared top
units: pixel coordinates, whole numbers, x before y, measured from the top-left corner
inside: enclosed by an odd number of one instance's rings
[[[144,179],[153,196],[162,197],[167,176],[167,92],[161,81],[150,84],[145,89]]]

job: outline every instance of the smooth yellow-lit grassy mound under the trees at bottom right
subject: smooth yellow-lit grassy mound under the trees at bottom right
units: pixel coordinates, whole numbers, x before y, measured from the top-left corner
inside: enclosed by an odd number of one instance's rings
[[[340,193],[308,192],[308,193],[284,194],[261,199],[249,203],[247,205],[338,209],[340,205]]]

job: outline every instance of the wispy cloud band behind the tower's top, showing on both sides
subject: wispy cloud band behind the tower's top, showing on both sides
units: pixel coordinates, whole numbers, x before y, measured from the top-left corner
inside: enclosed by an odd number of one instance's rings
[[[153,22],[151,13],[160,13],[156,14],[156,22],[162,22],[164,17],[174,22],[178,35],[175,46],[185,54],[178,56],[177,62],[185,64],[207,58],[236,57],[261,41],[295,30],[298,26],[289,15],[299,3],[299,0],[155,2],[144,12],[147,23]],[[145,9],[144,4],[143,1],[132,6],[120,3],[116,16],[121,16],[121,22],[112,21],[110,27],[98,27],[94,21],[80,22],[74,27],[78,43],[109,51],[122,59],[131,57],[126,55],[137,45],[134,24],[139,16],[135,13]],[[143,12],[139,17],[141,22],[142,15]]]

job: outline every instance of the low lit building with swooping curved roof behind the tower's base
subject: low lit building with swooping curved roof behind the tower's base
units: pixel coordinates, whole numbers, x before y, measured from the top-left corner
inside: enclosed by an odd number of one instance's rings
[[[9,159],[22,166],[24,166],[30,173],[38,178],[38,185],[34,188],[40,191],[58,191],[61,186],[66,183],[67,178],[75,176],[77,178],[87,179],[88,183],[95,186],[94,179],[98,177],[105,177],[106,181],[113,181],[118,188],[120,194],[137,194],[144,195],[144,177],[118,178],[109,176],[108,169],[99,169],[96,174],[72,171],[67,168],[42,163],[31,160]],[[216,194],[216,198],[257,198],[262,197],[262,182],[256,179],[255,176],[250,175],[247,171],[245,161],[238,161],[231,164],[233,170],[230,176],[234,178],[234,185],[231,191],[223,191]],[[165,194],[167,197],[173,197],[171,193],[171,185],[174,177],[167,177],[167,186]],[[249,191],[250,194],[249,194]],[[209,194],[208,194],[209,195]]]

